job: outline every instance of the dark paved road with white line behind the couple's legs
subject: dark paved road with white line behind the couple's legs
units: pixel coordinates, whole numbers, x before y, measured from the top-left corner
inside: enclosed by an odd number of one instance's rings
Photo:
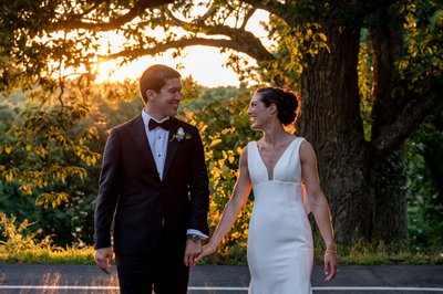
[[[198,265],[190,272],[188,293],[246,294],[249,279],[246,266]],[[443,265],[342,265],[333,282],[322,280],[321,266],[315,266],[313,293],[443,293]],[[0,263],[0,293],[114,294],[119,291],[115,267],[106,275],[94,265]]]

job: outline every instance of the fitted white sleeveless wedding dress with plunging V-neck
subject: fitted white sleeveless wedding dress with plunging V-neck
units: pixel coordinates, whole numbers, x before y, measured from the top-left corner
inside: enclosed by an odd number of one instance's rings
[[[268,175],[257,143],[248,144],[255,197],[248,233],[251,294],[312,293],[312,232],[303,204],[299,157],[303,140],[297,137],[290,143],[274,175]]]

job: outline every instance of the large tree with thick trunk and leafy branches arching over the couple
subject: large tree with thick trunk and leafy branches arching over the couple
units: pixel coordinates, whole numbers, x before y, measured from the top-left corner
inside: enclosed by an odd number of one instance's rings
[[[206,10],[196,14],[196,7]],[[270,13],[276,45],[246,29],[258,9]],[[442,15],[436,0],[2,1],[0,77],[3,87],[50,87],[48,76],[63,82],[69,66],[91,78],[102,59],[128,62],[192,45],[228,50],[229,64],[248,74],[237,53],[247,54],[264,80],[301,94],[298,132],[317,150],[337,240],[404,240],[402,144],[442,102]],[[164,38],[152,33],[158,28]],[[100,55],[105,32],[127,41]]]

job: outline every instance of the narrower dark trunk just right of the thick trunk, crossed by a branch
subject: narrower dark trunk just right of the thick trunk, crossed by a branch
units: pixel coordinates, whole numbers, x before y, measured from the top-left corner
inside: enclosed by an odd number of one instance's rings
[[[373,109],[371,139],[380,136],[383,126],[393,124],[405,105],[393,98],[399,77],[396,62],[402,56],[402,22],[394,9],[373,15],[370,28],[373,49]],[[372,160],[371,182],[374,189],[372,233],[370,240],[384,242],[408,239],[406,172],[403,145],[392,150],[381,162]]]

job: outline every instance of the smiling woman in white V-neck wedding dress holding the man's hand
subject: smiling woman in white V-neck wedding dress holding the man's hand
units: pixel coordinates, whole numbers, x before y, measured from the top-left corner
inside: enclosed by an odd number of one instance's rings
[[[326,245],[324,281],[337,274],[337,246],[328,201],[319,185],[316,154],[309,141],[285,130],[295,123],[298,106],[290,91],[266,87],[254,94],[247,114],[251,128],[264,136],[243,149],[233,196],[210,241],[195,259],[198,262],[216,251],[253,189],[247,254],[253,294],[312,293],[309,212]]]

